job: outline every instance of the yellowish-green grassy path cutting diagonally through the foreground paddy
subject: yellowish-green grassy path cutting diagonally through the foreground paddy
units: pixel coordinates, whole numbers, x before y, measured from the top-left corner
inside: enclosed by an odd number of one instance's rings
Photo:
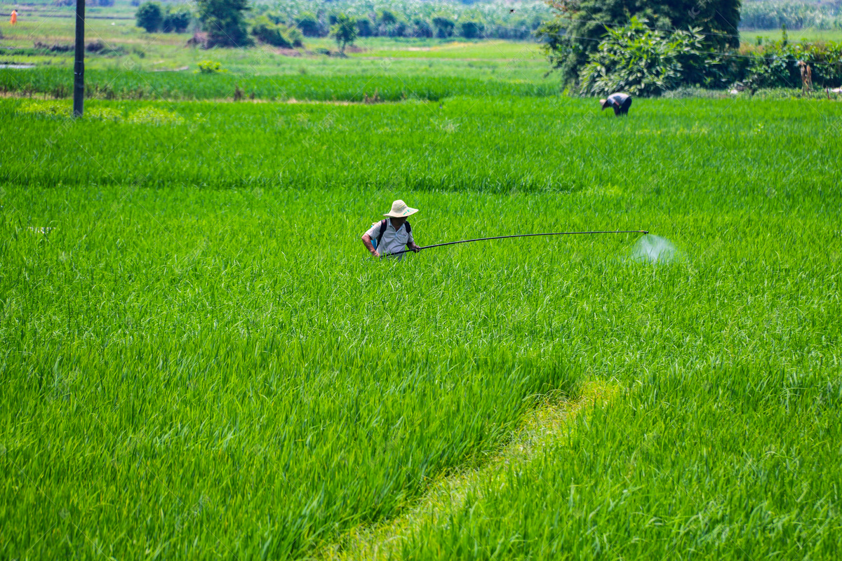
[[[569,421],[589,405],[604,407],[618,389],[614,384],[592,381],[584,384],[578,400],[547,400],[545,405],[526,415],[524,425],[514,439],[488,463],[440,478],[406,514],[373,527],[357,528],[339,542],[319,551],[314,558],[373,561],[399,557],[402,544],[414,527],[422,523],[448,523],[449,512],[460,508],[466,496],[479,496],[483,485],[497,481],[499,485],[504,485],[505,474],[513,464],[517,467],[530,463],[545,447],[559,442]]]

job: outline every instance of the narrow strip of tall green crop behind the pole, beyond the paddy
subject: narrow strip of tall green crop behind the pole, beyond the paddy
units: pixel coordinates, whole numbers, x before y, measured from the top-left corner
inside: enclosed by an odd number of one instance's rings
[[[195,74],[190,71],[130,71],[88,70],[85,72],[88,98],[145,98],[145,99],[221,99],[231,100],[239,87],[244,96],[271,101],[317,100],[361,102],[375,93],[381,101],[422,99],[438,101],[441,98],[465,95],[514,95],[552,96],[558,93],[558,82],[538,77],[493,77],[479,69],[474,77],[448,75],[437,72],[432,65],[424,71],[413,71],[408,65],[383,66],[377,61],[357,63],[353,71],[342,77],[328,73],[336,66],[324,66],[304,73],[274,74],[266,76],[247,73]],[[417,65],[415,65],[417,66]],[[312,68],[312,66],[311,66]],[[26,70],[0,70],[0,91],[36,97],[72,97],[72,66],[41,67]],[[291,68],[290,68],[291,70]],[[516,70],[506,72],[515,75]],[[456,72],[454,72],[456,74]],[[488,76],[483,76],[487,74]]]

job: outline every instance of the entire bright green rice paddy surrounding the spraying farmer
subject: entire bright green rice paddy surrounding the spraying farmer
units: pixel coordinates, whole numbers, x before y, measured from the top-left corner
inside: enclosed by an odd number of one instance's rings
[[[301,558],[594,379],[610,407],[400,555],[842,545],[837,103],[54,104],[0,100],[3,558]],[[375,262],[393,198],[423,245],[679,255]]]

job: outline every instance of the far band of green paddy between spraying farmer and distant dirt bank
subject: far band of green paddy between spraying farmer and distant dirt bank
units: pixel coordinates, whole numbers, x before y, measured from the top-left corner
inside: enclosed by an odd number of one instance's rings
[[[75,124],[37,113],[55,103],[3,103],[3,122],[19,126],[17,146],[0,148],[0,181],[517,190],[600,198],[638,186],[663,197],[694,193],[694,208],[781,210],[807,202],[831,208],[828,197],[836,196],[840,177],[834,144],[804,133],[806,125],[839,126],[839,105],[822,100],[636,99],[637,119],[627,120],[600,113],[594,100],[564,97],[352,106],[91,102],[88,108],[114,108],[124,120],[92,117]],[[69,114],[69,102],[62,103]],[[157,108],[180,123],[125,122],[141,108]],[[88,157],[69,149],[79,145]],[[811,155],[810,173],[793,168],[804,154]],[[711,172],[700,173],[701,166]]]

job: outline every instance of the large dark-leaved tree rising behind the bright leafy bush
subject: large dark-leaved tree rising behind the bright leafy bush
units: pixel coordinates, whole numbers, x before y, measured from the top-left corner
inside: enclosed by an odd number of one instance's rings
[[[740,0],[550,0],[555,17],[538,28],[553,69],[564,82],[576,82],[578,73],[597,50],[608,29],[621,27],[633,17],[647,19],[653,29],[668,32],[698,27],[705,46],[717,50],[737,48]]]

